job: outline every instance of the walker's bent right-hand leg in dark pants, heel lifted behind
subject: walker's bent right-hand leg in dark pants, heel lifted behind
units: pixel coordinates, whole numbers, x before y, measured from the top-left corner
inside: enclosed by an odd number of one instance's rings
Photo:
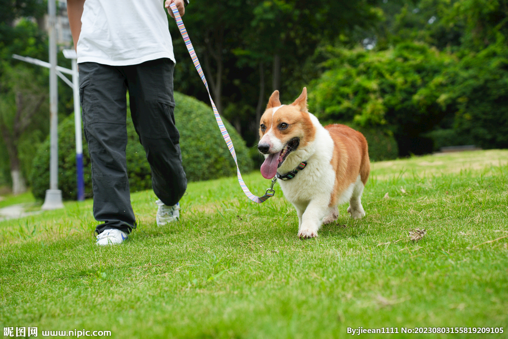
[[[125,68],[131,115],[150,164],[152,188],[169,206],[178,203],[187,188],[173,114],[173,69],[170,59]]]

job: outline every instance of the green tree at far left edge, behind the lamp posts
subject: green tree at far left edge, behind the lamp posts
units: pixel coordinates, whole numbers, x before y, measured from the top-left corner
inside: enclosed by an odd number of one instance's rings
[[[46,94],[48,71],[39,66],[26,64],[12,58],[13,54],[48,59],[48,41],[42,27],[43,16],[47,11],[46,1],[28,2],[22,0],[0,0],[0,103],[2,105],[2,120],[0,131],[2,140],[8,135],[8,142],[2,142],[0,147],[0,171],[9,174],[20,173],[8,183],[19,187],[22,179],[30,172],[33,154],[49,132],[47,103],[43,102],[37,113],[29,111],[35,109],[40,100],[39,94]],[[58,64],[70,68],[70,60],[58,55]],[[17,82],[15,84],[14,82]],[[25,86],[26,88],[22,88]],[[46,95],[47,97],[47,95]],[[73,111],[72,89],[58,86],[59,115],[65,116]],[[35,100],[30,102],[30,100]],[[35,106],[30,106],[30,105]],[[44,112],[45,113],[45,112]],[[33,115],[35,114],[35,115]],[[26,121],[36,123],[25,126]],[[24,131],[24,132],[23,132]],[[15,138],[13,140],[12,138]],[[7,140],[7,139],[6,139]],[[16,151],[14,151],[16,150]],[[11,161],[14,164],[11,164]],[[12,169],[15,169],[12,172]],[[18,191],[19,188],[16,188]]]

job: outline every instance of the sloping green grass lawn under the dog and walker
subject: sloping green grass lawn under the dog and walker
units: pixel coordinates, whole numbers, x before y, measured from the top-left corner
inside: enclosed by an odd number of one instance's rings
[[[181,222],[158,228],[152,192],[138,229],[99,248],[91,201],[0,222],[0,327],[108,330],[114,338],[508,337],[507,150],[374,163],[360,221],[297,237],[276,186],[251,203],[236,178],[194,182]],[[269,180],[244,177],[261,195]],[[388,193],[388,195],[387,195]],[[409,238],[425,229],[420,241]],[[503,327],[503,334],[400,334]],[[451,329],[450,329],[451,331]],[[367,337],[375,335],[364,334]]]

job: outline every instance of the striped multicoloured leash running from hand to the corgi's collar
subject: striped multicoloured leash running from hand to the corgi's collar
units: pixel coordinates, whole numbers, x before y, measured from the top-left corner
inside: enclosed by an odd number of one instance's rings
[[[187,47],[187,50],[190,54],[190,57],[193,60],[194,66],[196,67],[196,70],[199,73],[199,76],[201,77],[201,80],[205,84],[206,90],[208,91],[208,97],[210,98],[210,103],[212,104],[213,114],[215,115],[215,120],[217,121],[217,125],[219,127],[220,133],[223,135],[224,141],[226,141],[226,144],[228,145],[229,151],[231,152],[231,156],[235,160],[236,164],[236,172],[238,176],[238,182],[240,183],[240,187],[243,190],[243,193],[252,200],[253,202],[257,202],[258,204],[261,204],[265,202],[268,198],[273,197],[275,194],[275,191],[273,190],[273,184],[277,180],[276,178],[273,178],[271,187],[266,190],[266,193],[262,197],[257,197],[250,193],[249,189],[247,188],[245,182],[243,181],[242,174],[240,173],[240,168],[238,167],[238,161],[236,159],[236,152],[235,147],[233,146],[233,141],[231,141],[231,137],[229,136],[228,131],[226,130],[226,127],[224,126],[223,120],[220,118],[219,112],[217,111],[217,107],[215,107],[215,103],[213,102],[212,96],[210,95],[210,89],[208,88],[208,83],[206,82],[205,74],[203,73],[203,69],[201,68],[201,64],[199,63],[198,56],[196,55],[196,52],[194,51],[194,47],[192,45],[192,42],[190,42],[189,36],[187,34],[187,30],[185,29],[185,26],[183,25],[182,18],[180,16],[180,13],[178,12],[178,9],[176,8],[176,5],[174,3],[169,5],[171,10],[173,11],[173,14],[175,15],[176,25],[178,26],[178,29],[180,30],[180,34],[182,35],[183,41],[185,42],[185,46]]]

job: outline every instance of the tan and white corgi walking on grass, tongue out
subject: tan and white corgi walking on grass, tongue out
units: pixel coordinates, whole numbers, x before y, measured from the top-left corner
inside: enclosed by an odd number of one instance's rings
[[[313,238],[322,224],[338,218],[338,205],[364,217],[361,196],[370,173],[367,140],[344,125],[323,127],[307,109],[307,88],[291,105],[271,95],[260,120],[258,149],[265,156],[261,174],[277,176],[284,196],[298,214],[298,236]]]

